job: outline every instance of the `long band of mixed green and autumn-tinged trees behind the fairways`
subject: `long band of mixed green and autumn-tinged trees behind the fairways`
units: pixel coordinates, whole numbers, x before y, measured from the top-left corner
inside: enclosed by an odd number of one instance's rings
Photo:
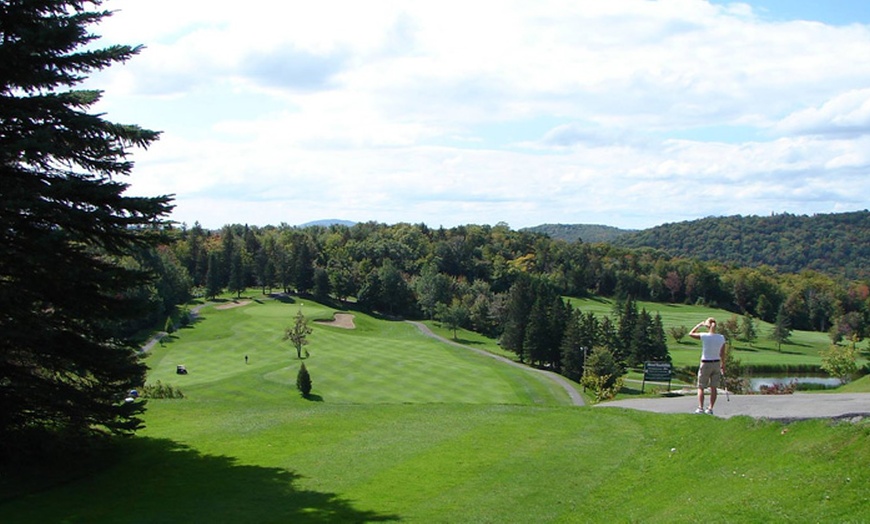
[[[863,338],[870,325],[867,281],[565,242],[503,223],[437,229],[375,222],[233,224],[215,231],[194,224],[174,236],[157,258],[157,265],[171,268],[170,282],[161,278],[155,288],[160,303],[167,303],[161,290],[175,285],[190,289],[175,290],[173,297],[257,287],[338,302],[353,298],[358,307],[386,316],[438,319],[514,347],[520,331],[511,324],[510,308],[538,318],[541,311],[556,311],[562,296],[703,304],[789,329],[829,332],[835,341]],[[558,366],[552,356],[537,358],[534,343],[527,346],[530,360]]]

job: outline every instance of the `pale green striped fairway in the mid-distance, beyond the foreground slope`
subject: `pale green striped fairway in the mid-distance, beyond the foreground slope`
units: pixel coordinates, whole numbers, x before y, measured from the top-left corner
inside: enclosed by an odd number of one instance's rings
[[[153,350],[149,381],[204,396],[212,394],[210,385],[221,383],[221,390],[243,401],[248,395],[260,396],[258,389],[248,389],[258,380],[246,375],[278,384],[289,394],[304,362],[312,393],[325,402],[570,404],[558,386],[532,370],[444,344],[413,325],[358,312],[352,330],[312,321],[310,343],[304,348],[309,356],[300,361],[292,344],[283,340],[300,309],[311,319],[327,320],[335,313],[311,301],[304,307],[264,300],[232,309],[205,308],[196,324]],[[188,375],[175,374],[179,364],[187,367]]]

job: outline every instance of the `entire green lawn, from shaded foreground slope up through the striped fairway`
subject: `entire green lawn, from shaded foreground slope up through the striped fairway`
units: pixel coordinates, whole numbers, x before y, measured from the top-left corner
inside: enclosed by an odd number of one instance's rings
[[[357,314],[315,326],[298,304],[218,311],[157,347],[147,429],[111,466],[0,497],[4,522],[858,522],[870,426],[784,427],[567,406],[536,373]],[[305,301],[310,317],[331,310]],[[244,355],[250,363],[245,365]],[[175,365],[190,370],[174,374]],[[458,385],[457,385],[458,384]]]

